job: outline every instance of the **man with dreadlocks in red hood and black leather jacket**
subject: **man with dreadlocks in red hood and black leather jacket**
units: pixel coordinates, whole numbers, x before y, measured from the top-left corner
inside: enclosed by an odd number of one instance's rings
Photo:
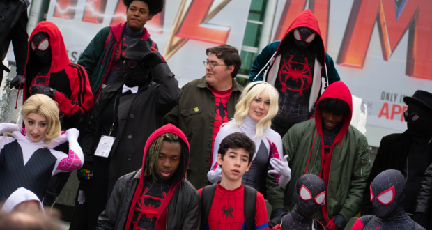
[[[96,229],[199,229],[201,197],[185,179],[189,158],[189,142],[176,126],[153,132],[143,167],[118,179]]]

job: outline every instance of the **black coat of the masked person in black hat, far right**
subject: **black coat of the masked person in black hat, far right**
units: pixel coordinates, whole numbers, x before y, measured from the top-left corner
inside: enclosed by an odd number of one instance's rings
[[[376,154],[375,161],[373,162],[373,166],[371,169],[371,173],[369,174],[369,178],[367,180],[366,188],[363,193],[363,201],[362,201],[362,215],[373,215],[373,208],[371,203],[371,192],[370,186],[373,179],[380,174],[382,171],[387,169],[396,169],[402,172],[406,167],[408,153],[410,153],[412,140],[408,135],[408,132],[405,131],[403,133],[394,133],[391,135],[387,135],[381,139],[380,148],[378,148],[378,153]],[[432,148],[431,153],[432,155]],[[419,162],[410,162],[411,159],[408,159],[409,165],[419,164]],[[417,160],[417,159],[415,159]],[[431,163],[432,157],[429,159],[424,159]],[[428,165],[429,165],[428,164]],[[423,178],[424,169],[419,169],[419,167],[408,167],[408,176],[410,175],[421,175]],[[407,175],[404,175],[407,176]],[[419,176],[417,176],[418,178]],[[420,180],[421,181],[421,180]],[[404,207],[405,211],[408,214],[414,214],[415,212],[415,202],[417,200],[417,193],[420,190],[420,181],[409,181],[407,182],[406,189],[404,191],[405,201]]]

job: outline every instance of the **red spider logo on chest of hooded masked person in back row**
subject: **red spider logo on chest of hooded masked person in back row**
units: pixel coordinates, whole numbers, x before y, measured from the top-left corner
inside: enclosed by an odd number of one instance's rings
[[[314,65],[311,65],[309,67],[309,64],[307,63],[307,58],[304,58],[304,62],[306,63],[291,61],[291,59],[293,59],[293,55],[291,55],[288,61],[285,61],[284,59],[284,65],[282,66],[281,71],[279,72],[279,82],[281,82],[282,85],[282,92],[286,92],[286,89],[288,89],[290,91],[298,91],[298,93],[302,95],[302,91],[308,89],[311,86],[311,82],[312,82],[311,68]],[[300,70],[298,68],[291,68],[292,63],[302,65],[303,69]],[[284,81],[282,80],[282,77],[284,77]],[[288,88],[288,86],[286,86],[286,81],[288,81],[288,78],[290,77],[295,82],[295,84],[297,84],[298,80],[300,79],[301,81],[300,89],[291,89]],[[306,78],[307,80],[306,85],[304,85],[303,78]]]

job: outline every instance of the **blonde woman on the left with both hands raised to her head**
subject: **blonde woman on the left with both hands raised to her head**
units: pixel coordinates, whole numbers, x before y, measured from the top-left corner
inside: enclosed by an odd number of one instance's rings
[[[49,178],[61,171],[82,167],[84,155],[75,128],[60,131],[59,107],[47,95],[32,95],[21,110],[25,128],[0,123],[0,201],[19,187],[30,190],[42,201]],[[6,132],[12,130],[13,137]],[[69,153],[53,148],[69,141]]]

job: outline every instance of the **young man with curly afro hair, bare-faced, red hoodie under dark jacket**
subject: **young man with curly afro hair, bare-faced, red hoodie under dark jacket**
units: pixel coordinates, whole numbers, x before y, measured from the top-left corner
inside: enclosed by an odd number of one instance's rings
[[[123,0],[126,8],[126,22],[101,29],[88,44],[78,64],[86,69],[94,101],[100,90],[109,85],[124,71],[121,56],[131,40],[143,39],[156,51],[157,45],[151,40],[144,27],[154,15],[162,12],[164,0]]]

